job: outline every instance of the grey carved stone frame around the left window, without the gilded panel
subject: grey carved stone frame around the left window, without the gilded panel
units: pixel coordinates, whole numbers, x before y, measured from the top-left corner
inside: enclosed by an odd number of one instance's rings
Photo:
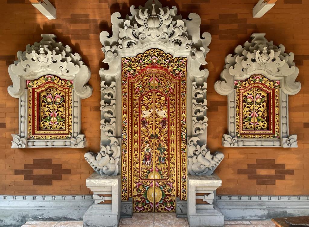
[[[13,134],[12,148],[47,148],[67,147],[83,148],[86,146],[85,135],[81,130],[81,98],[92,94],[88,85],[91,71],[77,53],[72,53],[69,46],[56,42],[54,34],[44,34],[43,39],[34,45],[27,45],[26,51],[17,53],[18,60],[9,66],[9,75],[13,85],[8,87],[12,97],[19,98],[19,134]],[[63,139],[33,139],[28,137],[29,81],[42,76],[53,75],[73,82],[71,96],[72,133]],[[27,84],[28,81],[28,84]],[[33,120],[33,119],[32,119]]]

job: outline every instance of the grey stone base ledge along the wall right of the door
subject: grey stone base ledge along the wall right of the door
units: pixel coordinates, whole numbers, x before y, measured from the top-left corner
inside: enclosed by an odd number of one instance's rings
[[[309,215],[309,196],[217,196],[225,220]]]

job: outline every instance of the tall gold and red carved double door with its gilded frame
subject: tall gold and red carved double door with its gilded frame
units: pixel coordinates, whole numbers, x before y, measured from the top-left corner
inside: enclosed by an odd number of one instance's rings
[[[122,200],[134,212],[186,199],[186,62],[159,49],[122,59]]]

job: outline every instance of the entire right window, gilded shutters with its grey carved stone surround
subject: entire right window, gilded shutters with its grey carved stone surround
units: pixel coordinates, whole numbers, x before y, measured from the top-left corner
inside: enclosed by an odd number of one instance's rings
[[[289,135],[288,96],[300,90],[294,54],[273,45],[265,34],[235,48],[215,83],[228,97],[228,134],[222,146],[297,147],[297,135]]]

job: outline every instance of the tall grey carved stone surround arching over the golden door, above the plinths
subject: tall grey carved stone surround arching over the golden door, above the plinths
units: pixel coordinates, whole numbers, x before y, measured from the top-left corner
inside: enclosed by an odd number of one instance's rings
[[[86,160],[99,174],[117,175],[120,165],[121,144],[121,58],[135,57],[151,48],[159,48],[174,57],[187,57],[187,138],[191,158],[190,174],[212,174],[224,155],[207,151],[207,69],[200,69],[208,53],[211,36],[201,34],[201,18],[191,13],[188,19],[177,15],[177,8],[162,7],[158,0],[149,0],[145,6],[130,7],[131,15],[121,19],[120,13],[111,16],[112,35],[103,31],[104,61],[108,69],[101,68],[101,151],[88,152]],[[118,142],[116,142],[118,141]],[[205,146],[204,146],[205,145]],[[193,147],[195,146],[195,149]],[[206,150],[205,150],[206,149]],[[196,152],[197,150],[198,152]],[[204,152],[204,150],[206,152]],[[102,152],[103,151],[103,152]]]

